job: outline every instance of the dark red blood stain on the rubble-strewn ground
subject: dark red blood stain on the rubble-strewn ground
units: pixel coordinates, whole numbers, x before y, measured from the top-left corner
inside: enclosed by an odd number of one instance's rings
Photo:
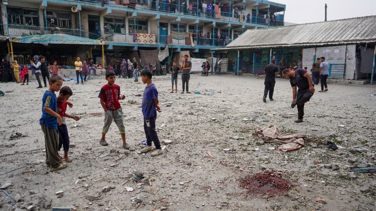
[[[260,172],[241,179],[240,186],[246,188],[248,190],[247,193],[254,195],[275,196],[284,194],[293,185],[291,182],[283,179],[282,176],[282,174],[274,172]]]

